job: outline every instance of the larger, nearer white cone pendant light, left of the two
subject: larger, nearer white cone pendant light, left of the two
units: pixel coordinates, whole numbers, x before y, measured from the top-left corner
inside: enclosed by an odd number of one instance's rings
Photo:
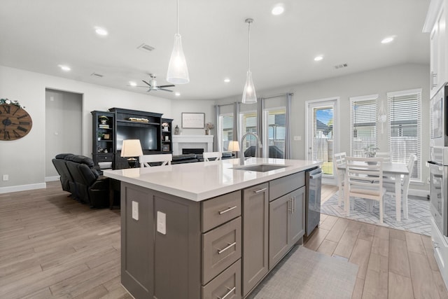
[[[179,34],[179,0],[177,0],[177,33],[174,34],[174,47],[169,59],[167,81],[173,84],[190,82],[187,62],[183,55],[181,34]]]

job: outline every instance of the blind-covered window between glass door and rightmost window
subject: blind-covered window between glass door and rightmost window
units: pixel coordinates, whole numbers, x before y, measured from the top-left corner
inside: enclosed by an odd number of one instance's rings
[[[377,147],[378,95],[350,98],[350,150],[353,157],[364,157],[364,148]]]

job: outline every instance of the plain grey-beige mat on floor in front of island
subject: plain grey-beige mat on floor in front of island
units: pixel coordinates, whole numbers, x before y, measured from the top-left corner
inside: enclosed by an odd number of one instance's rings
[[[296,246],[248,298],[351,298],[357,273],[358,265]]]

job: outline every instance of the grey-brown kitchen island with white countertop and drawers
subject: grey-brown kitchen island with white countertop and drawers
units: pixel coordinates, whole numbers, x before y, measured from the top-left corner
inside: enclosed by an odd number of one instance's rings
[[[121,282],[134,298],[244,298],[304,235],[308,160],[105,171],[121,181]]]

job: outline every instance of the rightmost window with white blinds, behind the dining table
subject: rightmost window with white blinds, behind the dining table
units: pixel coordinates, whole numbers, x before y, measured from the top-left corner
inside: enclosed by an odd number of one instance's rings
[[[413,181],[421,181],[421,89],[388,92],[388,139],[392,162],[416,155]]]

